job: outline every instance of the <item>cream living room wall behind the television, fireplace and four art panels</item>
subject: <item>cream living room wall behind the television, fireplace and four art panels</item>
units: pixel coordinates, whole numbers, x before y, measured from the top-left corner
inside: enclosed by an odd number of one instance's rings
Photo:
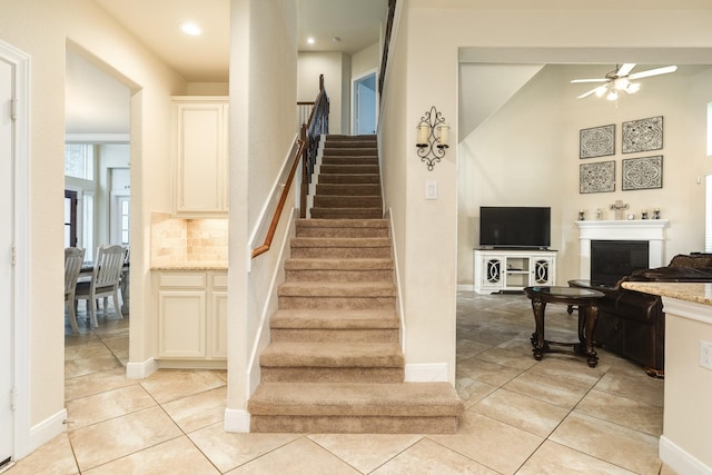
[[[621,199],[630,212],[660,207],[671,220],[666,259],[703,250],[704,154],[706,103],[712,96],[710,69],[680,71],[641,80],[635,96],[617,106],[605,99],[576,96],[592,86],[570,85],[573,78],[600,77],[612,66],[547,66],[502,109],[466,137],[459,147],[458,283],[473,280],[472,249],[478,244],[479,206],[551,206],[552,248],[558,253],[558,284],[578,277],[578,231],[573,221],[583,209],[596,208],[613,219],[611,204]],[[635,70],[651,66],[640,65]],[[595,86],[595,85],[594,85]],[[622,154],[624,121],[663,116],[663,149]],[[615,125],[615,155],[578,158],[580,130]],[[663,188],[622,190],[622,160],[663,156]],[[580,194],[580,165],[615,161],[615,191]]]

